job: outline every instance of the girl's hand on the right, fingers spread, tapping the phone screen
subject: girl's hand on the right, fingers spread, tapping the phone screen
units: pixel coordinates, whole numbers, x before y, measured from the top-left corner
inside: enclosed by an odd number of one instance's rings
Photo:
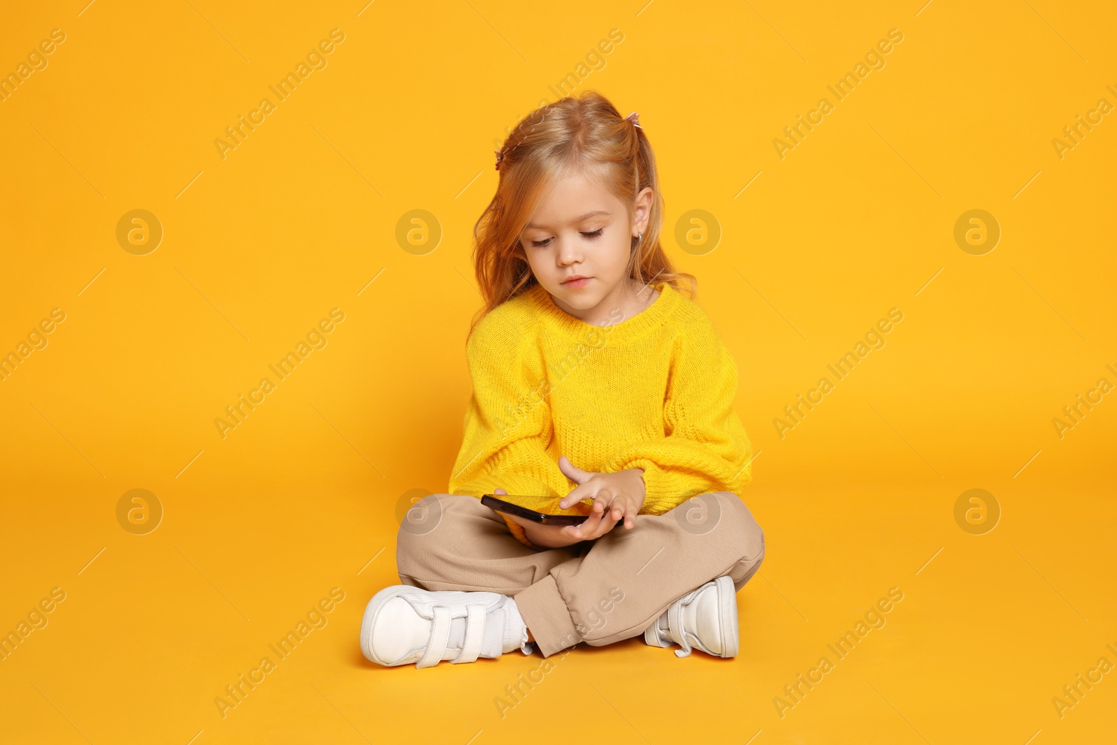
[[[622,518],[626,529],[631,531],[636,526],[636,516],[643,507],[646,497],[642,468],[595,474],[582,470],[570,462],[566,456],[560,456],[558,470],[577,484],[558,503],[561,508],[566,509],[586,497],[593,497],[590,518],[581,525],[566,526],[571,531],[570,535],[577,536],[580,541],[590,541],[613,529]]]

